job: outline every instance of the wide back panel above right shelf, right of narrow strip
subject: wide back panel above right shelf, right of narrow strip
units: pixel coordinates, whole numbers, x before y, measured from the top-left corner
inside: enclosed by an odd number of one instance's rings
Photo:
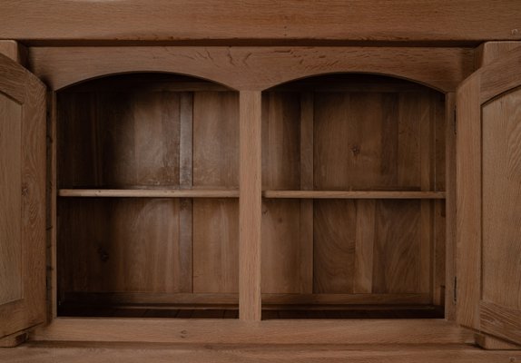
[[[419,191],[431,146],[421,125],[436,103],[426,92],[315,94],[315,189]]]

